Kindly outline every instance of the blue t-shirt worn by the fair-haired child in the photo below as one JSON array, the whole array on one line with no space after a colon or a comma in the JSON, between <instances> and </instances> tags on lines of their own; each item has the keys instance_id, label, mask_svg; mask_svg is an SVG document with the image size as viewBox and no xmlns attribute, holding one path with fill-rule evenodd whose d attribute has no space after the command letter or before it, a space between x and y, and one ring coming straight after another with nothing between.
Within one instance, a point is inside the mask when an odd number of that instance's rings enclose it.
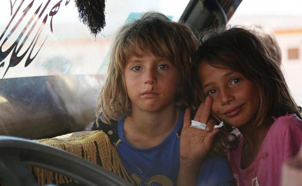
<instances>
[{"instance_id":1,"label":"blue t-shirt worn by the fair-haired child","mask_svg":"<svg viewBox=\"0 0 302 186\"><path fill-rule=\"evenodd\" d=\"M176 186L180 160L180 137L183 112L172 131L160 144L136 148L124 139L123 120L118 123L120 143L117 151L128 174L138 186ZM226 159L206 158L198 178L198 186L228 186L233 176Z\"/></svg>"}]
</instances>

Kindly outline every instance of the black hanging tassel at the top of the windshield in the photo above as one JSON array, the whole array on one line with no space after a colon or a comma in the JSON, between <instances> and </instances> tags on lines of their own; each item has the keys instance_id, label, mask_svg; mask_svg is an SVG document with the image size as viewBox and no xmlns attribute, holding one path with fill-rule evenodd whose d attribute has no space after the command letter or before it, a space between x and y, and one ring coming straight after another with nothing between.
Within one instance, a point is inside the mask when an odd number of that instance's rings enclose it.
<instances>
[{"instance_id":1,"label":"black hanging tassel at the top of the windshield","mask_svg":"<svg viewBox=\"0 0 302 186\"><path fill-rule=\"evenodd\" d=\"M105 1L106 0L75 0L81 22L88 26L91 35L94 35L94 37L96 37L106 25Z\"/></svg>"}]
</instances>

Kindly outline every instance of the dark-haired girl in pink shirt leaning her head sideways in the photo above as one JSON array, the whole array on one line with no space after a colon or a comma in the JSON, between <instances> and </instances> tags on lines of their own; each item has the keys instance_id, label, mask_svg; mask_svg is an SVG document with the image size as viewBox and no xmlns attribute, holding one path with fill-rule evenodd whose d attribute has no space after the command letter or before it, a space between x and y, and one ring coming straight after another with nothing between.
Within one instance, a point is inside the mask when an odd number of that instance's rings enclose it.
<instances>
[{"instance_id":1,"label":"dark-haired girl in pink shirt leaning her head sideways","mask_svg":"<svg viewBox=\"0 0 302 186\"><path fill-rule=\"evenodd\" d=\"M205 33L193 61L196 103L204 102L197 113L211 110L240 131L228 152L237 186L279 186L283 162L302 143L302 116L277 60L253 32L232 28Z\"/></svg>"}]
</instances>

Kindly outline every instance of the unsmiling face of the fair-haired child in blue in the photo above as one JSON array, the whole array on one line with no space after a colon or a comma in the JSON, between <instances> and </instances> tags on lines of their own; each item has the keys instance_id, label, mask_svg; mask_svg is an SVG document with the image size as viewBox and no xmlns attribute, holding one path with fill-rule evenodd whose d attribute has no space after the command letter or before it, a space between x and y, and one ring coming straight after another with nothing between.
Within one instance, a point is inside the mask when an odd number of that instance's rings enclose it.
<instances>
[{"instance_id":1,"label":"unsmiling face of the fair-haired child in blue","mask_svg":"<svg viewBox=\"0 0 302 186\"><path fill-rule=\"evenodd\" d=\"M171 61L141 52L141 57L129 57L124 76L133 111L156 112L175 105L180 73Z\"/></svg>"}]
</instances>

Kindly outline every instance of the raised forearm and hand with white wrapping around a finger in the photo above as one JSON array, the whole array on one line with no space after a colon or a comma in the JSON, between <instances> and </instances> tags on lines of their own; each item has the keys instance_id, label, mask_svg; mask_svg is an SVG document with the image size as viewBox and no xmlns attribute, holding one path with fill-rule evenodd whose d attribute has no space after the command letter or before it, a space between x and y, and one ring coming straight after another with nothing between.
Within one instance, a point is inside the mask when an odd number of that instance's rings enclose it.
<instances>
[{"instance_id":1,"label":"raised forearm and hand with white wrapping around a finger","mask_svg":"<svg viewBox=\"0 0 302 186\"><path fill-rule=\"evenodd\" d=\"M215 125L214 120L209 120L211 114L212 98L207 97L194 117L195 121L207 124L210 130ZM202 160L211 150L215 135L219 129L210 131L191 128L190 110L186 109L183 118L180 143L180 170L177 179L178 186L196 186ZM209 127L208 127L209 126Z\"/></svg>"}]
</instances>

